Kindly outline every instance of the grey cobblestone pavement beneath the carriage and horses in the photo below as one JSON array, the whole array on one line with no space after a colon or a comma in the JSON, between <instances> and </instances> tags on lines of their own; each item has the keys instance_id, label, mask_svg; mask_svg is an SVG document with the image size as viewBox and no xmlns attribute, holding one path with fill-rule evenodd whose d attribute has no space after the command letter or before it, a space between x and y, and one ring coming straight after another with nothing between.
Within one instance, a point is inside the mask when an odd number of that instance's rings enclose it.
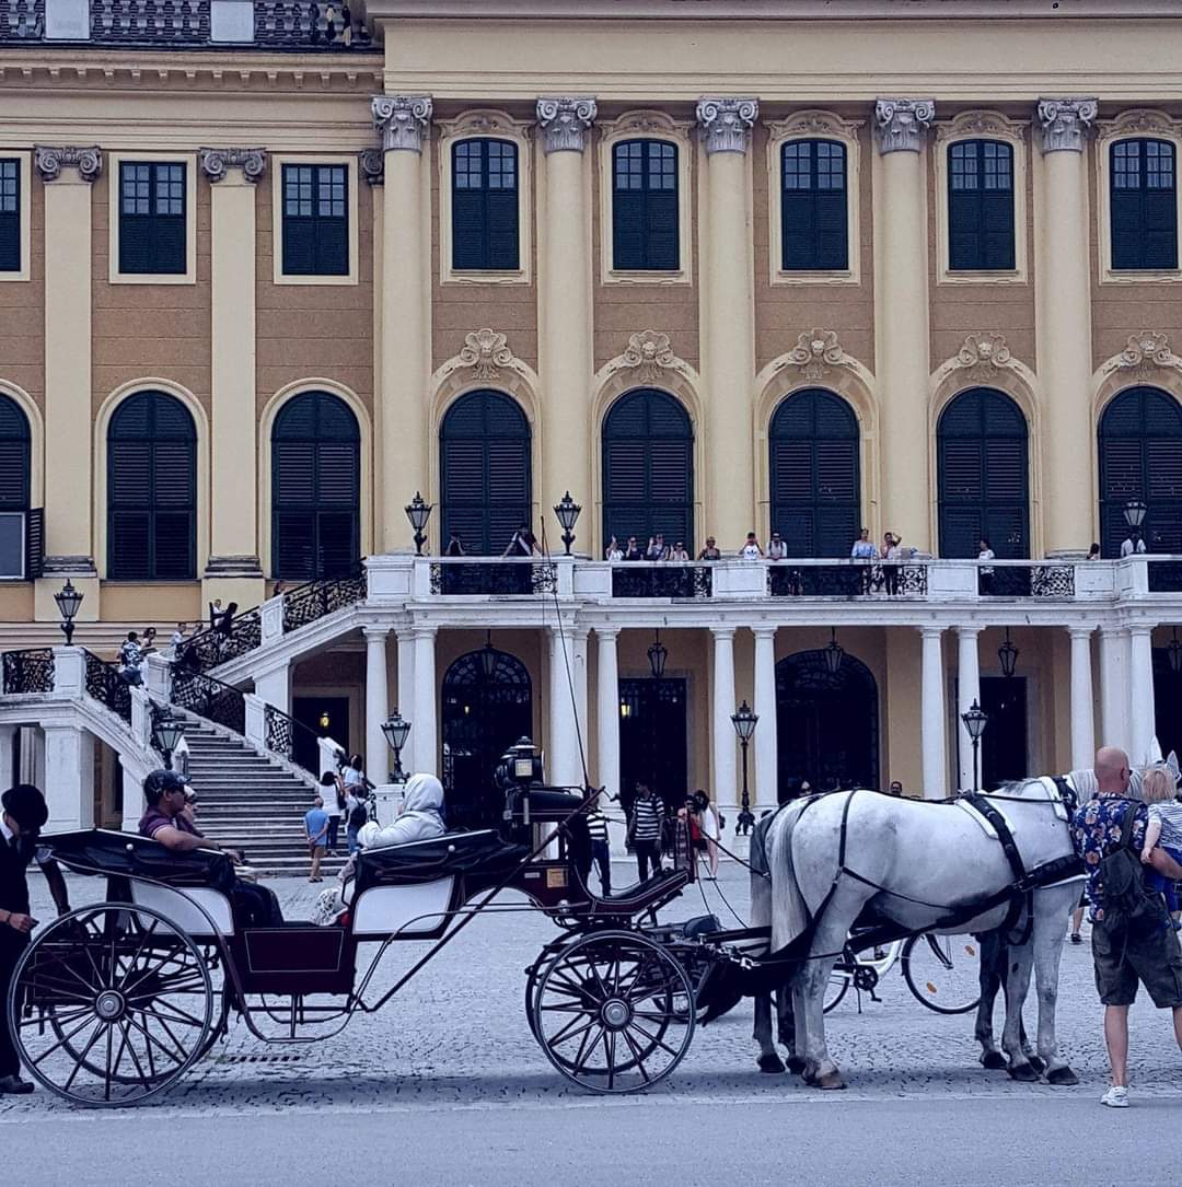
<instances>
[{"instance_id":1,"label":"grey cobblestone pavement beneath the carriage and horses","mask_svg":"<svg viewBox=\"0 0 1182 1187\"><path fill-rule=\"evenodd\" d=\"M617 878L624 881L620 865ZM321 889L286 878L271 883L287 918L306 918ZM50 919L52 909L39 877L34 880L34 913ZM75 878L75 903L101 893L96 878ZM685 919L710 909L734 923L719 890L746 918L746 872L725 865L715 887L703 883L674 903L666 915ZM541 946L556 935L539 914L516 912L478 919L443 950L385 1009L354 1017L335 1037L321 1043L268 1047L240 1022L188 1077L163 1099L144 1107L165 1113L268 1113L291 1110L383 1111L386 1109L489 1107L514 1103L579 1107L592 1099L568 1085L535 1043L523 1005L523 971ZM365 967L375 946L359 958ZM396 975L425 951L421 942L393 946L377 972L368 998L379 996ZM903 980L898 966L879 985L881 1003L846 996L828 1016L830 1049L849 1084L843 1099L866 1097L1028 1098L1102 1092L1106 1064L1101 1008L1092 980L1089 947L1068 945L1063 952L1058 1033L1062 1049L1079 1073L1081 1086L1054 1088L1012 1083L1004 1072L978 1065L972 1016L942 1017L925 1010ZM1032 1023L1034 1003L1028 1004ZM998 1011L1000 1023L1000 1009ZM1131 1078L1138 1098L1182 1097L1182 1058L1174 1043L1168 1014L1142 999L1132 1011ZM700 1028L675 1075L653 1088L657 1104L677 1100L776 1102L830 1096L801 1085L795 1077L761 1075L751 1042L751 1003ZM26 1098L0 1098L0 1124L31 1112L69 1111L64 1102L39 1091Z\"/></svg>"}]
</instances>

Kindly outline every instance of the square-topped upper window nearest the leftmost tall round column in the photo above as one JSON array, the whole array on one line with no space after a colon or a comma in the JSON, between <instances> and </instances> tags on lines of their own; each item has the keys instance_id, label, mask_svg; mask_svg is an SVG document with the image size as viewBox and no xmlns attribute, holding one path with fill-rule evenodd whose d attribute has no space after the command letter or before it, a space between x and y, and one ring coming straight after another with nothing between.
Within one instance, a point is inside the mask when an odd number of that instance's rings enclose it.
<instances>
[{"instance_id":1,"label":"square-topped upper window nearest the leftmost tall round column","mask_svg":"<svg viewBox=\"0 0 1182 1187\"><path fill-rule=\"evenodd\" d=\"M283 274L349 274L349 180L345 165L283 166Z\"/></svg>"}]
</instances>

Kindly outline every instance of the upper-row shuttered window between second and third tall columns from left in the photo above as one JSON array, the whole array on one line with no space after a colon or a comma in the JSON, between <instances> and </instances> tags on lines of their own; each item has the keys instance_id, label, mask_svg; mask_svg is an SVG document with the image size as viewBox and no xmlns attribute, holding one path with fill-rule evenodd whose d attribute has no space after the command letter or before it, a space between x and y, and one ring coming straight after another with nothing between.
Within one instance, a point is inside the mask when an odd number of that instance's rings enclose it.
<instances>
[{"instance_id":1,"label":"upper-row shuttered window between second and third tall columns from left","mask_svg":"<svg viewBox=\"0 0 1182 1187\"><path fill-rule=\"evenodd\" d=\"M677 146L622 140L612 148L612 267L676 272Z\"/></svg>"}]
</instances>

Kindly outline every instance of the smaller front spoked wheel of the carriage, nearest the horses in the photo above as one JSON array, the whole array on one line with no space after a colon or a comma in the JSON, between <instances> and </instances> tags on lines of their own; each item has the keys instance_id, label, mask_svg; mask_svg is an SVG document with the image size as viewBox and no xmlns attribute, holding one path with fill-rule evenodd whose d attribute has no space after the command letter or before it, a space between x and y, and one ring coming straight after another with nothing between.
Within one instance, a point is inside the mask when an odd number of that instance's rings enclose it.
<instances>
[{"instance_id":1,"label":"smaller front spoked wheel of the carriage, nearest the horses","mask_svg":"<svg viewBox=\"0 0 1182 1187\"><path fill-rule=\"evenodd\" d=\"M663 1080L694 1035L694 986L659 944L632 932L586 935L538 980L532 1029L550 1062L594 1092Z\"/></svg>"}]
</instances>

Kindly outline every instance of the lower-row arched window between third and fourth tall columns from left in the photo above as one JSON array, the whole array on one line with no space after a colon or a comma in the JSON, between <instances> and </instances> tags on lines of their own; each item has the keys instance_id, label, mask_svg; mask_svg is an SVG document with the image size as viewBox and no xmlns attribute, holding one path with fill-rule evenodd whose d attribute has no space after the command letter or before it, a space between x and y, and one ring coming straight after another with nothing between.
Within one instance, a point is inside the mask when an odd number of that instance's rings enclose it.
<instances>
[{"instance_id":1,"label":"lower-row arched window between third and fourth tall columns from left","mask_svg":"<svg viewBox=\"0 0 1182 1187\"><path fill-rule=\"evenodd\" d=\"M858 418L822 388L795 392L769 430L771 527L794 557L848 557L861 526Z\"/></svg>"}]
</instances>

